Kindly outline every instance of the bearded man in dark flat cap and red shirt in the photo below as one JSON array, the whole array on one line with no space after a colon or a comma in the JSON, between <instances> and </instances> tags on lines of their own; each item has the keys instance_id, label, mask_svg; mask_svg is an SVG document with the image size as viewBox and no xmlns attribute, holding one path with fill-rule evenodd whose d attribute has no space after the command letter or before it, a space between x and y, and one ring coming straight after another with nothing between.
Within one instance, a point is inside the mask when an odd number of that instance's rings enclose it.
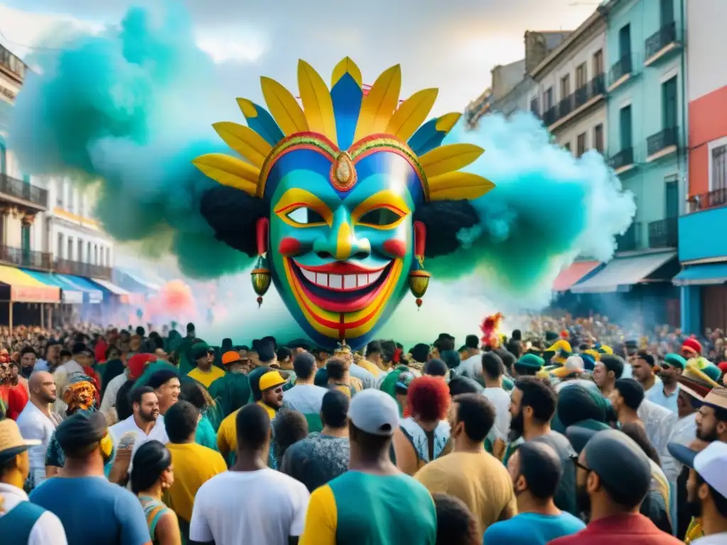
<instances>
[{"instance_id":1,"label":"bearded man in dark flat cap and red shirt","mask_svg":"<svg viewBox=\"0 0 727 545\"><path fill-rule=\"evenodd\" d=\"M549 545L680 545L639 513L651 485L651 465L639 445L623 432L569 430L577 447L579 510L590 515L587 527Z\"/></svg>"}]
</instances>

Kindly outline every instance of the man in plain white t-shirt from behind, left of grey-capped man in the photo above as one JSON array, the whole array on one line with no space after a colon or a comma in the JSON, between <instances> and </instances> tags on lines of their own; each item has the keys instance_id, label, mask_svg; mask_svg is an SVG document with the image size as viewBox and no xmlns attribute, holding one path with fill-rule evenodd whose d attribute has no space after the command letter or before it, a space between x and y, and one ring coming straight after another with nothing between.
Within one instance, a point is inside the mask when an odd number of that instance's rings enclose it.
<instances>
[{"instance_id":1,"label":"man in plain white t-shirt from behind, left of grey-capped man","mask_svg":"<svg viewBox=\"0 0 727 545\"><path fill-rule=\"evenodd\" d=\"M271 437L267 411L257 404L245 405L236 413L235 424L236 462L230 471L215 475L197 491L190 541L217 545L296 543L308 509L308 490L267 466Z\"/></svg>"}]
</instances>

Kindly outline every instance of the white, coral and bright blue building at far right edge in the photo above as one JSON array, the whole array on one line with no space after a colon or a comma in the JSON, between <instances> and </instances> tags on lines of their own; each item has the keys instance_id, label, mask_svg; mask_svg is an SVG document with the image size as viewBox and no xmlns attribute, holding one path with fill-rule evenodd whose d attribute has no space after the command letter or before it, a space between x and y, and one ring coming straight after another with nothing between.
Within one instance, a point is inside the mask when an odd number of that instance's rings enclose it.
<instances>
[{"instance_id":1,"label":"white, coral and bright blue building at far right edge","mask_svg":"<svg viewBox=\"0 0 727 545\"><path fill-rule=\"evenodd\" d=\"M687 1L688 193L679 218L686 331L727 329L727 10L720 0Z\"/></svg>"}]
</instances>

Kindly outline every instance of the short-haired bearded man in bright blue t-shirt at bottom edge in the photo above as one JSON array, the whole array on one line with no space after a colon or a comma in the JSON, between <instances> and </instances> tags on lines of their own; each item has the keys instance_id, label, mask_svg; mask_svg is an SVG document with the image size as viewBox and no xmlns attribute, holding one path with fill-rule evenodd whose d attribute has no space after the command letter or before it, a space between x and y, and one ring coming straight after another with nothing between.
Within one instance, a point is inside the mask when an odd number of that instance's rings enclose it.
<instances>
[{"instance_id":1,"label":"short-haired bearded man in bright blue t-shirt at bottom edge","mask_svg":"<svg viewBox=\"0 0 727 545\"><path fill-rule=\"evenodd\" d=\"M510 457L507 470L513 479L518 514L487 528L487 545L545 545L585 528L574 515L555 506L563 469L558 454L545 443L523 443Z\"/></svg>"}]
</instances>

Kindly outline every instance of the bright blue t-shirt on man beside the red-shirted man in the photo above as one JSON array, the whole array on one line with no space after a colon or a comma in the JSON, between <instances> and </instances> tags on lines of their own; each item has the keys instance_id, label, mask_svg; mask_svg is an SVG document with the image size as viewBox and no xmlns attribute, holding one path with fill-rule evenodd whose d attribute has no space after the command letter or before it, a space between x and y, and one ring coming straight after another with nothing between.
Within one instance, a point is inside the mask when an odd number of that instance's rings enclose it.
<instances>
[{"instance_id":1,"label":"bright blue t-shirt on man beside the red-shirted man","mask_svg":"<svg viewBox=\"0 0 727 545\"><path fill-rule=\"evenodd\" d=\"M565 511L558 515L521 513L495 522L485 531L485 545L545 545L548 541L583 530L586 525Z\"/></svg>"}]
</instances>

